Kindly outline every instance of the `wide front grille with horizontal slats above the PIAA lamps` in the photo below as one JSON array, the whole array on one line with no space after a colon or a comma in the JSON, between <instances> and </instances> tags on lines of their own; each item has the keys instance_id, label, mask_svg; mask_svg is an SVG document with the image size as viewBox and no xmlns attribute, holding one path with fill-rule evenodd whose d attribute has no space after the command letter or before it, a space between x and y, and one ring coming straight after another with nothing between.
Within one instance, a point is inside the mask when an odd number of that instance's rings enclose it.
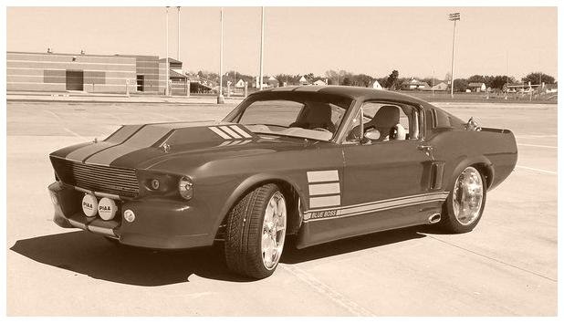
<instances>
[{"instance_id":1,"label":"wide front grille with horizontal slats above the PIAA lamps","mask_svg":"<svg viewBox=\"0 0 564 323\"><path fill-rule=\"evenodd\" d=\"M139 183L135 170L52 158L60 180L90 191L135 197Z\"/></svg>"}]
</instances>

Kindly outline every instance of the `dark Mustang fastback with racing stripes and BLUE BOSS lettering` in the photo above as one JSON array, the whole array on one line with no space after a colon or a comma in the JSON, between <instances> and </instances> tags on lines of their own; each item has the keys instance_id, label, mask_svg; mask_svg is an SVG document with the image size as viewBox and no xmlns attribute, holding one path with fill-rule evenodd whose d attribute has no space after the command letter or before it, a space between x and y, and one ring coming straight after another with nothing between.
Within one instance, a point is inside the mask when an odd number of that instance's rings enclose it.
<instances>
[{"instance_id":1,"label":"dark Mustang fastback with racing stripes and BLUE BOSS lettering","mask_svg":"<svg viewBox=\"0 0 564 323\"><path fill-rule=\"evenodd\" d=\"M391 91L288 87L221 122L124 125L54 151L54 221L121 245L225 248L263 278L298 248L420 224L469 232L517 162L510 130Z\"/></svg>"}]
</instances>

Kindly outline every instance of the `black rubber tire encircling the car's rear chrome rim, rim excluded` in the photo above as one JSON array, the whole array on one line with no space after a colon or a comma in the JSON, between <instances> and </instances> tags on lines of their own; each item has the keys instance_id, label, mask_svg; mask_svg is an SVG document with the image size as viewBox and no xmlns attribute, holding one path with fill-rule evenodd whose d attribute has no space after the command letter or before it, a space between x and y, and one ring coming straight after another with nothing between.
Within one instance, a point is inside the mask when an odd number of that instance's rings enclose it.
<instances>
[{"instance_id":1,"label":"black rubber tire encircling the car's rear chrome rim, rim excluded","mask_svg":"<svg viewBox=\"0 0 564 323\"><path fill-rule=\"evenodd\" d=\"M456 216L454 215L454 206L453 206L454 185L456 184L458 178L462 174L461 172L461 174L456 176L454 182L450 186L450 193L448 194L448 197L446 198L446 201L443 204L442 220L439 223L439 225L443 228L444 232L449 234L465 234L467 232L474 230L475 226L480 222L480 219L482 218L482 214L484 214L484 207L486 206L486 196L487 196L486 178L484 177L484 174L480 172L479 169L476 169L474 166L465 167L465 170L468 168L472 168L476 172L478 172L482 179L482 192L483 192L482 205L480 207L480 211L478 215L475 217L475 220L472 221L471 223L462 224L456 219Z\"/></svg>"}]
</instances>

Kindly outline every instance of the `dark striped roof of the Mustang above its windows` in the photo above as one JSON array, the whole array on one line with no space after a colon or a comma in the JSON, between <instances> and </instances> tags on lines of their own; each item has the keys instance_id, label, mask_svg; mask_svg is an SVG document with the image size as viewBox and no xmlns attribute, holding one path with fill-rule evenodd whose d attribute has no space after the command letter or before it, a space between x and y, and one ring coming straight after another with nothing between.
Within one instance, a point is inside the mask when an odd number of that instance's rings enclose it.
<instances>
[{"instance_id":1,"label":"dark striped roof of the Mustang above its windows","mask_svg":"<svg viewBox=\"0 0 564 323\"><path fill-rule=\"evenodd\" d=\"M400 94L385 89L370 89L370 88L332 86L332 85L331 86L306 85L306 86L296 86L296 87L263 89L261 91L252 93L250 96L260 96L261 94L273 93L273 92L278 92L280 94L284 92L288 92L288 93L309 92L309 93L337 95L340 97L346 97L355 100L381 99L381 100L403 101L413 104L421 104L426 107L430 106L428 102L423 101L422 99L414 98L409 95Z\"/></svg>"}]
</instances>

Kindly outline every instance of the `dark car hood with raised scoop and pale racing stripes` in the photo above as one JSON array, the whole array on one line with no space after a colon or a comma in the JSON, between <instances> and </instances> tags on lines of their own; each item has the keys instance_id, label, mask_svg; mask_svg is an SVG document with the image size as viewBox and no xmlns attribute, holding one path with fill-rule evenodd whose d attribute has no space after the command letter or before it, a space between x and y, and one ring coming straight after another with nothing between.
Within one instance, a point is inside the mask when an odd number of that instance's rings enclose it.
<instances>
[{"instance_id":1,"label":"dark car hood with raised scoop and pale racing stripes","mask_svg":"<svg viewBox=\"0 0 564 323\"><path fill-rule=\"evenodd\" d=\"M166 171L164 166L174 163L195 166L217 159L296 150L309 143L299 138L257 135L235 123L152 123L122 126L104 141L70 146L54 151L51 157L102 166Z\"/></svg>"}]
</instances>

